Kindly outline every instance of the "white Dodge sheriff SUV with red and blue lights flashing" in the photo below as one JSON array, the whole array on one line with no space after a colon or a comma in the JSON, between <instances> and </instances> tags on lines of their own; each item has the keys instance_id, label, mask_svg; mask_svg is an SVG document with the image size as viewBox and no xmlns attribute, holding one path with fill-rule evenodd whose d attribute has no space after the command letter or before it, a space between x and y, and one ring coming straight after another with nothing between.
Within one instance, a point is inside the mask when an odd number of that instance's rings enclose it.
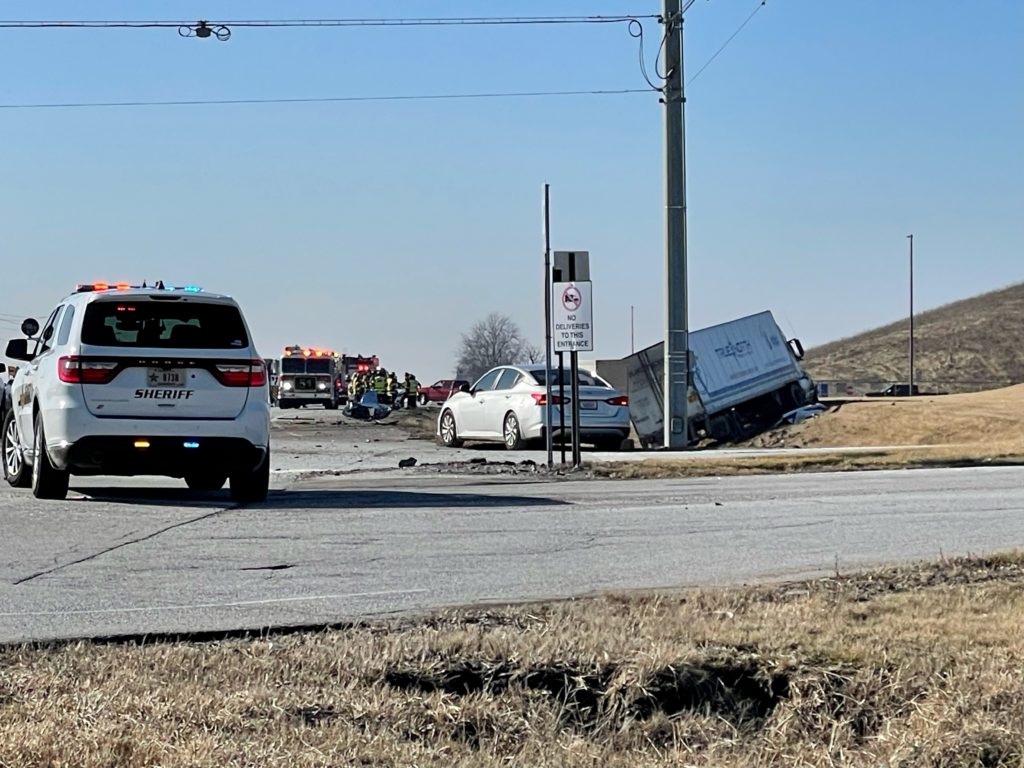
<instances>
[{"instance_id":1,"label":"white Dodge sheriff SUV with red and blue lights flashing","mask_svg":"<svg viewBox=\"0 0 1024 768\"><path fill-rule=\"evenodd\" d=\"M163 475L266 498L266 367L233 299L96 283L22 331L6 350L25 364L0 431L8 483L63 499L71 475Z\"/></svg>"}]
</instances>

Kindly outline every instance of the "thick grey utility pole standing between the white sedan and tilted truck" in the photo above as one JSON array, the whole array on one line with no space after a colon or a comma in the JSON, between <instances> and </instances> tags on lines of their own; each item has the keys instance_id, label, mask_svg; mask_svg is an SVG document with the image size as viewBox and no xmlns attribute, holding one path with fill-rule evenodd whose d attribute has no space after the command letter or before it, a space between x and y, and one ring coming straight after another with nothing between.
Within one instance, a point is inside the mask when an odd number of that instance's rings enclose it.
<instances>
[{"instance_id":1,"label":"thick grey utility pole standing between the white sedan and tilted truck","mask_svg":"<svg viewBox=\"0 0 1024 768\"><path fill-rule=\"evenodd\" d=\"M664 0L665 25L665 446L689 443L690 382L686 296L686 127L681 0Z\"/></svg>"}]
</instances>

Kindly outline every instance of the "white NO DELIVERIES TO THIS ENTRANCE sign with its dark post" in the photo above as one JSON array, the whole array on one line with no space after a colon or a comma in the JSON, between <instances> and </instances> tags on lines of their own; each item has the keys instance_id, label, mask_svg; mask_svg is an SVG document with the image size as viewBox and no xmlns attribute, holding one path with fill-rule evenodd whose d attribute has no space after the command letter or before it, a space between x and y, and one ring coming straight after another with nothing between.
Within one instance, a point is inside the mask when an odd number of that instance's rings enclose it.
<instances>
[{"instance_id":1,"label":"white NO DELIVERIES TO THIS ENTRANCE sign with its dark post","mask_svg":"<svg viewBox=\"0 0 1024 768\"><path fill-rule=\"evenodd\" d=\"M594 302L590 282L590 253L555 251L552 270L552 338L556 352L569 353L572 402L572 466L580 467L579 352L594 351ZM559 382L563 381L559 371Z\"/></svg>"}]
</instances>

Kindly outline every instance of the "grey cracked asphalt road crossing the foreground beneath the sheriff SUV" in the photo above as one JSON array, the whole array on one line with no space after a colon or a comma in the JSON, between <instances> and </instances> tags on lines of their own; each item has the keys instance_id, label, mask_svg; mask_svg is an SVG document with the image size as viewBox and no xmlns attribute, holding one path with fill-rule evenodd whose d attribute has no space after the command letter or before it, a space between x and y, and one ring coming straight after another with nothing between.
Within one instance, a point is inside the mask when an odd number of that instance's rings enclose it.
<instances>
[{"instance_id":1,"label":"grey cracked asphalt road crossing the foreground beneath the sheriff SUV","mask_svg":"<svg viewBox=\"0 0 1024 768\"><path fill-rule=\"evenodd\" d=\"M332 623L715 585L1024 542L1024 468L665 481L366 473L229 505L178 483L0 485L0 642Z\"/></svg>"}]
</instances>

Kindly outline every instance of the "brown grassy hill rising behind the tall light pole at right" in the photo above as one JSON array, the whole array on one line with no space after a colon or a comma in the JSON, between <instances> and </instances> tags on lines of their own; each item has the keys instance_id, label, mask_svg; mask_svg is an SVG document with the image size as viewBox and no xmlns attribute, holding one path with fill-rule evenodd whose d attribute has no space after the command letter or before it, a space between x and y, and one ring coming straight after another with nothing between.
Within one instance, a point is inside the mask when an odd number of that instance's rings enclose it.
<instances>
[{"instance_id":1,"label":"brown grassy hill rising behind the tall light pole at right","mask_svg":"<svg viewBox=\"0 0 1024 768\"><path fill-rule=\"evenodd\" d=\"M905 382L908 343L903 319L808 349L805 365L857 389ZM1024 283L915 315L914 370L922 387L947 392L1024 382Z\"/></svg>"}]
</instances>

